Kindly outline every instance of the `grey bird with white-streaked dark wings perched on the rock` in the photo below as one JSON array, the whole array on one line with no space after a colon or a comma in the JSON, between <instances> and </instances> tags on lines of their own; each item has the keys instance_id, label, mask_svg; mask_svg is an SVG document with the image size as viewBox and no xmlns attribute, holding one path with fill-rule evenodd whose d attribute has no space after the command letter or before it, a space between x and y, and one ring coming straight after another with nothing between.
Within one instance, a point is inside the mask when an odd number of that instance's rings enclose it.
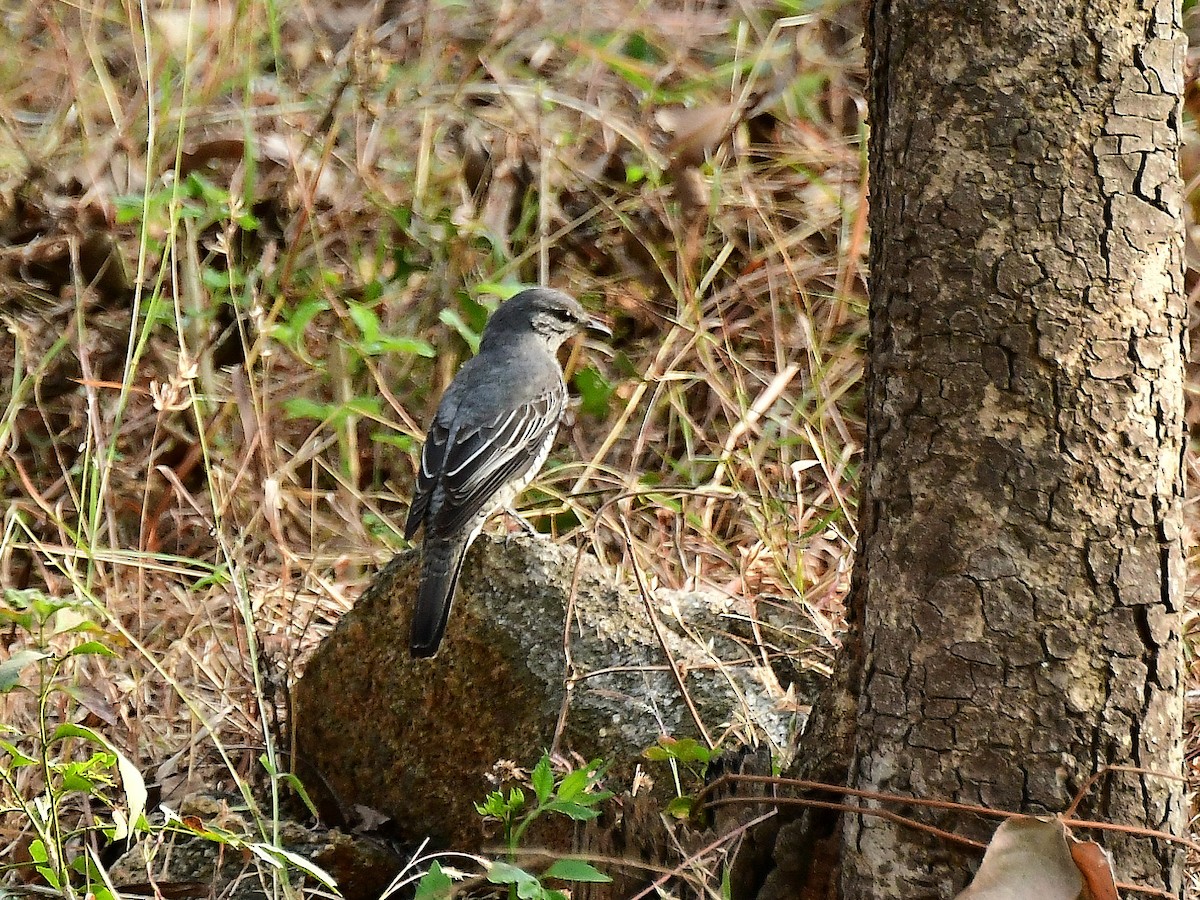
<instances>
[{"instance_id":1,"label":"grey bird with white-streaked dark wings perched on the rock","mask_svg":"<svg viewBox=\"0 0 1200 900\"><path fill-rule=\"evenodd\" d=\"M581 329L612 336L566 294L522 290L492 313L479 354L442 395L404 524L408 539L425 528L414 656L438 652L458 571L484 522L508 508L546 462L566 406L556 353Z\"/></svg>"}]
</instances>

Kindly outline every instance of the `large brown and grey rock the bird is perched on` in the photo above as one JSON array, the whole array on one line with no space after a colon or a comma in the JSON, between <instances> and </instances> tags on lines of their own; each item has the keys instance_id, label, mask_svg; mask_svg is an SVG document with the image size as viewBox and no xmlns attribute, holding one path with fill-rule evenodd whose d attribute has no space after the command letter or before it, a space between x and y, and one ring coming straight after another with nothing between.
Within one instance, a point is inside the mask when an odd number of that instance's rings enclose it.
<instances>
[{"instance_id":1,"label":"large brown and grey rock the bird is perched on","mask_svg":"<svg viewBox=\"0 0 1200 900\"><path fill-rule=\"evenodd\" d=\"M486 775L498 761L536 762L560 715L560 751L612 762L613 790L628 786L660 736L701 737L643 600L593 557L546 539L480 538L432 660L408 653L418 566L415 552L394 558L298 685L296 773L332 821L360 804L394 820L406 839L478 850L474 803L494 790ZM654 606L709 734L732 725L782 744L794 722L778 712L774 678L730 636L722 616L732 602L659 592ZM565 832L536 838L559 848L570 840Z\"/></svg>"}]
</instances>

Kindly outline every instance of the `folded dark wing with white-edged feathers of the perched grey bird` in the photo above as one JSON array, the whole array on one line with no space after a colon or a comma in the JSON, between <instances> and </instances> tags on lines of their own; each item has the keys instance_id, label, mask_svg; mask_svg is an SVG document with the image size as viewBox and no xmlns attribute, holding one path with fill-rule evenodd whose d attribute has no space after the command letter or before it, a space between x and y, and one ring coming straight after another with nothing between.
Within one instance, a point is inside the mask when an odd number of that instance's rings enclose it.
<instances>
[{"instance_id":1,"label":"folded dark wing with white-edged feathers of the perched grey bird","mask_svg":"<svg viewBox=\"0 0 1200 900\"><path fill-rule=\"evenodd\" d=\"M563 414L560 385L482 424L445 427L434 422L421 451L416 492L406 534L425 521L428 532L454 534L512 479L538 461ZM430 509L434 487L439 502ZM414 518L415 516L415 518Z\"/></svg>"}]
</instances>

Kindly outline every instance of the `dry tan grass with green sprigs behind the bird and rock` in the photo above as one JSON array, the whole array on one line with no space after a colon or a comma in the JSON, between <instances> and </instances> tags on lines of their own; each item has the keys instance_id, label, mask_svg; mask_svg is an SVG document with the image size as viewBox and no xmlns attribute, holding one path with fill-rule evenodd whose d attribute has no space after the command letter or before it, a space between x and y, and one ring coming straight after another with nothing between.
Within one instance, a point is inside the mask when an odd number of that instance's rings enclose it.
<instances>
[{"instance_id":1,"label":"dry tan grass with green sprigs behind the bird and rock","mask_svg":"<svg viewBox=\"0 0 1200 900\"><path fill-rule=\"evenodd\" d=\"M798 611L766 652L823 667L864 73L857 6L800 11L10 2L0 583L128 649L50 713L104 724L168 803L260 779L272 685L403 546L420 424L517 282L617 332L571 356L533 521L628 570L619 515L659 583Z\"/></svg>"}]
</instances>

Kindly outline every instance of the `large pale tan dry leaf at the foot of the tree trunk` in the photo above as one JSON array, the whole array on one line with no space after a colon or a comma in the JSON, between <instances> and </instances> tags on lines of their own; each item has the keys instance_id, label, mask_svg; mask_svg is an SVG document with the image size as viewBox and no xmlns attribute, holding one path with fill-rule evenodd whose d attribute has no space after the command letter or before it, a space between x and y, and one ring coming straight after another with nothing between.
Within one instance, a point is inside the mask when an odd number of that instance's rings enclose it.
<instances>
[{"instance_id":1,"label":"large pale tan dry leaf at the foot of the tree trunk","mask_svg":"<svg viewBox=\"0 0 1200 900\"><path fill-rule=\"evenodd\" d=\"M1067 836L1057 818L1016 816L1002 822L974 880L956 900L1078 900L1084 876Z\"/></svg>"}]
</instances>

